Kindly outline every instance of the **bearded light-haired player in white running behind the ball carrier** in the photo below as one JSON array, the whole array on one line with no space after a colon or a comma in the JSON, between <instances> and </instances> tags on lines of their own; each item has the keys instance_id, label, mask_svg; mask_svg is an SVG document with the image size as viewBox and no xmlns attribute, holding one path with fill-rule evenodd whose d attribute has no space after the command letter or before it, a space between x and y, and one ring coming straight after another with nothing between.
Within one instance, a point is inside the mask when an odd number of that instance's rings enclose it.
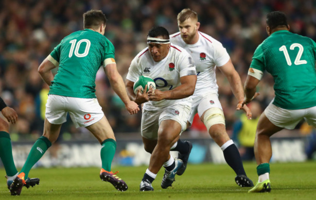
<instances>
[{"instance_id":1,"label":"bearded light-haired player in white running behind the ball carrier","mask_svg":"<svg viewBox=\"0 0 316 200\"><path fill-rule=\"evenodd\" d=\"M235 171L236 183L242 187L251 187L253 183L246 176L239 151L226 132L224 113L218 100L215 69L218 67L227 77L232 92L238 100L237 110L244 109L250 119L249 108L241 106L244 92L240 77L222 44L211 36L198 31L200 23L196 12L183 9L177 16L177 22L180 32L170 35L170 40L190 53L197 73L188 126L192 124L194 115L198 113L213 140L223 150L226 162ZM182 143L182 141L178 142ZM184 155L179 154L178 157L182 159ZM186 155L186 157L189 156ZM187 164L185 161L183 163L182 171L185 170Z\"/></svg>"}]
</instances>

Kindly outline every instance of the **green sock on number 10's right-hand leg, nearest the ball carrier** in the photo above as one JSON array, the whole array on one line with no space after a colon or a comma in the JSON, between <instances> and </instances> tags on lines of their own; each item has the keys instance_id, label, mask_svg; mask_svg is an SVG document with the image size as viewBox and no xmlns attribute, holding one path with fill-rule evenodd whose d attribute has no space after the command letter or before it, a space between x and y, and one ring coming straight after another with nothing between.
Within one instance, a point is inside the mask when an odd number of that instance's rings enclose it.
<instances>
[{"instance_id":1,"label":"green sock on number 10's right-hand leg, nearest the ball carrier","mask_svg":"<svg viewBox=\"0 0 316 200\"><path fill-rule=\"evenodd\" d=\"M106 139L101 145L102 168L106 171L111 171L111 164L116 150L116 141L113 139Z\"/></svg>"}]
</instances>

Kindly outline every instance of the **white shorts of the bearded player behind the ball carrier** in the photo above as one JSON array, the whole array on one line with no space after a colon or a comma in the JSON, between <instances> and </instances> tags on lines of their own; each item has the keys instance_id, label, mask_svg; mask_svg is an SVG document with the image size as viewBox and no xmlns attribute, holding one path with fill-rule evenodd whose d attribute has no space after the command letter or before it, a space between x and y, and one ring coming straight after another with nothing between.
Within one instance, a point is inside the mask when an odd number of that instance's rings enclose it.
<instances>
[{"instance_id":1,"label":"white shorts of the bearded player behind the ball carrier","mask_svg":"<svg viewBox=\"0 0 316 200\"><path fill-rule=\"evenodd\" d=\"M219 102L218 94L208 93L206 95L193 95L192 108L189 117L189 122L192 124L194 115L198 113L199 117L210 108L219 108L223 110L221 102Z\"/></svg>"}]
</instances>

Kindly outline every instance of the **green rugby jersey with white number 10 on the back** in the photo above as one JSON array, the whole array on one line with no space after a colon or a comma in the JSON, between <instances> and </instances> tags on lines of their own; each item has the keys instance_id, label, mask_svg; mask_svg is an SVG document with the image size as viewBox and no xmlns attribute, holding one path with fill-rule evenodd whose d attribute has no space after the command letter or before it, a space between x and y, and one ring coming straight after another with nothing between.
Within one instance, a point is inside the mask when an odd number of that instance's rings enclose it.
<instances>
[{"instance_id":1,"label":"green rugby jersey with white number 10 on the back","mask_svg":"<svg viewBox=\"0 0 316 200\"><path fill-rule=\"evenodd\" d=\"M105 59L114 59L114 46L104 35L85 29L66 36L51 56L59 68L49 94L96 98L96 73Z\"/></svg>"}]
</instances>

